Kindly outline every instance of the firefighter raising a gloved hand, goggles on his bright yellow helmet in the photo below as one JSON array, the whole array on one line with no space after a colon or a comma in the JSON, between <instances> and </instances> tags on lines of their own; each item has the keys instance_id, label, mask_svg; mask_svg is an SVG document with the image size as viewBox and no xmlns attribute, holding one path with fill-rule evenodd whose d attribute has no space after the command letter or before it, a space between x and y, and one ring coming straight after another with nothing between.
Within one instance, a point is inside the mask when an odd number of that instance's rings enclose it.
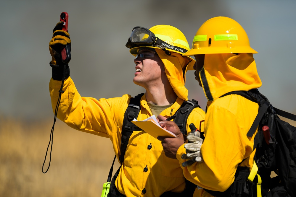
<instances>
[{"instance_id":1,"label":"firefighter raising a gloved hand, goggles on his bright yellow helmet","mask_svg":"<svg viewBox=\"0 0 296 197\"><path fill-rule=\"evenodd\" d=\"M53 110L64 79L57 117L78 131L110 138L119 158L123 117L131 95L99 100L81 97L70 77L68 64L64 78L62 74L63 64L58 51L61 45L70 43L68 32L58 23L49 43L52 55L49 92ZM133 82L146 89L137 120L159 114L174 115L184 100L188 100L185 73L194 70L195 62L189 56L183 56L189 50L183 33L169 25L157 25L149 30L135 27L126 46L136 57ZM187 119L187 131L190 132L188 123L199 123L204 118L205 112L195 108ZM134 131L115 186L117 196L180 196L185 188L185 178L178 160L165 156L160 141L145 131Z\"/></svg>"}]
</instances>

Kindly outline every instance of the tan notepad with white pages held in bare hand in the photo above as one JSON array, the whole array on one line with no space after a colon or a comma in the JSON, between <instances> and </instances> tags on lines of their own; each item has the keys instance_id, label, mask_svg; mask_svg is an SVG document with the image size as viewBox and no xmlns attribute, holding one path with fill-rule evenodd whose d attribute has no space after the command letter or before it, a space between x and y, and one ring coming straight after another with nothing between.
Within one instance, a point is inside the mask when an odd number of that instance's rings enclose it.
<instances>
[{"instance_id":1,"label":"tan notepad with white pages held in bare hand","mask_svg":"<svg viewBox=\"0 0 296 197\"><path fill-rule=\"evenodd\" d=\"M160 126L155 115L152 115L149 118L142 120L142 121L137 121L136 119L133 119L133 121L131 121L131 122L155 138L157 138L158 136L176 137L176 135L174 133L172 133Z\"/></svg>"}]
</instances>

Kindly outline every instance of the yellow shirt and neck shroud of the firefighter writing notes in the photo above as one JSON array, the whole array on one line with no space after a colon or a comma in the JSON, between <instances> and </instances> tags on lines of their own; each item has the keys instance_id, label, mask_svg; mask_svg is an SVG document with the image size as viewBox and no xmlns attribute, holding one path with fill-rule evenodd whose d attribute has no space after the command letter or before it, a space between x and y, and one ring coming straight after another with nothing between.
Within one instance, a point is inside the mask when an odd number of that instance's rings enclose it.
<instances>
[{"instance_id":1,"label":"yellow shirt and neck shroud of the firefighter writing notes","mask_svg":"<svg viewBox=\"0 0 296 197\"><path fill-rule=\"evenodd\" d=\"M240 166L253 166L254 136L249 131L258 113L258 104L239 95L220 96L235 90L250 90L261 86L252 53L206 54L200 78L208 99L201 146L204 162L183 168L185 178L202 188L225 191L234 182ZM258 130L257 130L258 131ZM257 133L257 131L255 133ZM180 165L184 162L184 145L178 149ZM203 189L194 196L210 197Z\"/></svg>"}]
</instances>

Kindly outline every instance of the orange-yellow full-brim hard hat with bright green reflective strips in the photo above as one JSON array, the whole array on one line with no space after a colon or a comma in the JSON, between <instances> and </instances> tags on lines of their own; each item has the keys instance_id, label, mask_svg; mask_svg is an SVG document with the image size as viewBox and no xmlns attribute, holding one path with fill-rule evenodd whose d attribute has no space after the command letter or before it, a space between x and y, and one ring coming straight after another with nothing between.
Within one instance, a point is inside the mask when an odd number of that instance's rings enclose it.
<instances>
[{"instance_id":1,"label":"orange-yellow full-brim hard hat with bright green reflective strips","mask_svg":"<svg viewBox=\"0 0 296 197\"><path fill-rule=\"evenodd\" d=\"M215 53L258 53L250 47L247 33L235 20L214 17L197 30L192 49L184 55Z\"/></svg>"}]
</instances>

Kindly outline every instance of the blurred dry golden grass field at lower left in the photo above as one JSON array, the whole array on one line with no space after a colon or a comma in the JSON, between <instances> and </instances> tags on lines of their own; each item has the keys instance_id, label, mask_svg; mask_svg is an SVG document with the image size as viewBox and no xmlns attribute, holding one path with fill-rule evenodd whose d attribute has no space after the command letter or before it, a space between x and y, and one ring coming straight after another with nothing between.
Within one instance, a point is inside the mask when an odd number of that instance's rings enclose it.
<instances>
[{"instance_id":1,"label":"blurred dry golden grass field at lower left","mask_svg":"<svg viewBox=\"0 0 296 197\"><path fill-rule=\"evenodd\" d=\"M114 158L110 140L76 131L57 120L51 165L43 174L52 122L0 118L1 197L101 196ZM46 161L44 171L49 157ZM113 171L118 167L115 161Z\"/></svg>"}]
</instances>

